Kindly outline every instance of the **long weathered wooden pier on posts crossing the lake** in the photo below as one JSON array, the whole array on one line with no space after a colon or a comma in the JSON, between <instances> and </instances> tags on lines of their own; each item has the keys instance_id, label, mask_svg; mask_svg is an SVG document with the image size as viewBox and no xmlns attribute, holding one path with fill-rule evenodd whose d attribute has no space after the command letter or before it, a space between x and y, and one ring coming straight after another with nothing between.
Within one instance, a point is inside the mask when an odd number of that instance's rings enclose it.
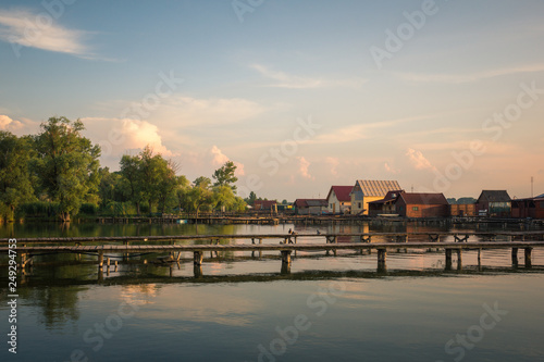
<instances>
[{"instance_id":1,"label":"long weathered wooden pier on posts crossing the lake","mask_svg":"<svg viewBox=\"0 0 544 362\"><path fill-rule=\"evenodd\" d=\"M477 237L478 241L469 241L470 237ZM447 238L453 241L444 241ZM506 241L496 241L498 238ZM220 244L221 240L251 240L251 244ZM263 244L263 240L273 240L274 244ZM277 244L277 239L280 242ZM314 242L321 239L325 242ZM374 240L379 239L378 242ZM421 240L428 241L421 241ZM529 240L528 240L529 239ZM124 258L127 260L131 254L146 253L168 253L166 257L158 258L158 263L177 263L182 260L182 253L193 253L195 265L194 274L201 277L201 265L205 262L205 253L228 252L251 252L251 257L263 257L263 252L280 252L282 260L281 271L284 274L290 273L292 254L297 251L324 252L336 255L338 251L353 250L356 253L372 253L378 255L378 272L386 272L387 252L408 252L412 249L443 250L445 253L445 271L453 270L453 254L457 254L457 270L462 270L462 252L467 250L478 250L478 263L481 266L482 250L489 249L511 249L511 263L518 266L518 250L524 251L524 266L532 266L531 255L533 248L544 247L544 232L455 232L455 233L360 233L360 234L272 234L272 235L182 235L182 236L147 236L147 237L76 237L76 238L27 238L17 239L17 253L20 265L25 271L25 266L39 254L94 254L97 255L99 266L99 278L103 277L103 269L109 273L111 259ZM200 242L194 245L178 245L175 242L191 240ZM300 242L297 242L300 241ZM304 241L302 241L304 240ZM312 240L312 244L309 244ZM165 245L164 242L169 244ZM89 244L101 245L89 245ZM104 242L110 242L104 245ZM116 245L112 245L116 242ZM131 244L132 242L132 244ZM145 245L141 245L145 242ZM162 244L161 244L162 242ZM201 242L209 242L203 245ZM72 244L72 245L66 245ZM75 244L75 245L73 245ZM86 244L86 245L84 245ZM139 245L135 245L139 244ZM30 245L30 246L27 246ZM0 252L8 253L8 247L0 247ZM113 255L110 255L113 254ZM122 257L118 257L118 254ZM106 257L106 260L104 260ZM277 254L274 257L277 259ZM209 261L209 260L207 260ZM147 261L146 261L147 262ZM116 267L118 261L114 261ZM355 269L357 265L354 266Z\"/></svg>"}]
</instances>

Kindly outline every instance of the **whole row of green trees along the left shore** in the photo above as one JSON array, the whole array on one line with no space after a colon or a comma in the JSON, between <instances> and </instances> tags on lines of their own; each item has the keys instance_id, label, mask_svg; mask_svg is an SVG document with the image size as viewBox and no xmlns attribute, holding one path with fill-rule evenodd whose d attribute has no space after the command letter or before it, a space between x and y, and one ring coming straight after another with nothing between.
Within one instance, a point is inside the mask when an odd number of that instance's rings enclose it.
<instances>
[{"instance_id":1,"label":"whole row of green trees along the left shore","mask_svg":"<svg viewBox=\"0 0 544 362\"><path fill-rule=\"evenodd\" d=\"M120 171L99 162L100 147L82 136L84 125L51 117L38 135L0 132L0 214L4 220L75 215L148 215L151 213L244 211L236 196L236 165L228 161L213 182L191 183L180 166L146 147L123 155Z\"/></svg>"}]
</instances>

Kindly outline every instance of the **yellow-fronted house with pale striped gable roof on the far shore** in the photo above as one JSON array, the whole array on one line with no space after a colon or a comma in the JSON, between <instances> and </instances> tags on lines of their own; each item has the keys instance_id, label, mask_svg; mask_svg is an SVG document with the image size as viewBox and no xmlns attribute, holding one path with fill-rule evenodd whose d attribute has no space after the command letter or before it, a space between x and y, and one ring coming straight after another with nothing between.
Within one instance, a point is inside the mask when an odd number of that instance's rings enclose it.
<instances>
[{"instance_id":1,"label":"yellow-fronted house with pale striped gable roof on the far shore","mask_svg":"<svg viewBox=\"0 0 544 362\"><path fill-rule=\"evenodd\" d=\"M358 179L350 192L351 214L368 215L369 202L382 200L388 191L400 189L396 180Z\"/></svg>"}]
</instances>

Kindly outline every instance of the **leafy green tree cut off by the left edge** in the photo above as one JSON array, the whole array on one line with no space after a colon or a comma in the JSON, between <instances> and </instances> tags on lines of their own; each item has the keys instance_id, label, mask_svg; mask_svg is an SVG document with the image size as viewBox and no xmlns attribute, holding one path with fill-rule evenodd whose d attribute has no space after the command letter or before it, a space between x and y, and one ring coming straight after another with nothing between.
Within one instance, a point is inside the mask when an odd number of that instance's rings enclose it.
<instances>
[{"instance_id":1,"label":"leafy green tree cut off by the left edge","mask_svg":"<svg viewBox=\"0 0 544 362\"><path fill-rule=\"evenodd\" d=\"M13 219L17 205L35 199L28 172L30 154L27 138L0 132L0 204L7 219Z\"/></svg>"}]
</instances>

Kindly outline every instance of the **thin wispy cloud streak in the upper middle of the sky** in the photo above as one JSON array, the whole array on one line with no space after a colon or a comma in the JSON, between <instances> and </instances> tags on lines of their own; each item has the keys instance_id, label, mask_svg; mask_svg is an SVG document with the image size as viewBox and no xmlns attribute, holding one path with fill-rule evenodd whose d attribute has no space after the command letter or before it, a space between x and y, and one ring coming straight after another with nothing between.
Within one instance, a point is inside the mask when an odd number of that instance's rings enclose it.
<instances>
[{"instance_id":1,"label":"thin wispy cloud streak in the upper middle of the sky","mask_svg":"<svg viewBox=\"0 0 544 362\"><path fill-rule=\"evenodd\" d=\"M324 79L324 78L309 78L287 74L280 71L273 71L261 64L250 65L254 70L259 72L263 77L275 80L267 87L273 88L289 88L289 89L311 89L322 87L359 87L366 79Z\"/></svg>"}]
</instances>

